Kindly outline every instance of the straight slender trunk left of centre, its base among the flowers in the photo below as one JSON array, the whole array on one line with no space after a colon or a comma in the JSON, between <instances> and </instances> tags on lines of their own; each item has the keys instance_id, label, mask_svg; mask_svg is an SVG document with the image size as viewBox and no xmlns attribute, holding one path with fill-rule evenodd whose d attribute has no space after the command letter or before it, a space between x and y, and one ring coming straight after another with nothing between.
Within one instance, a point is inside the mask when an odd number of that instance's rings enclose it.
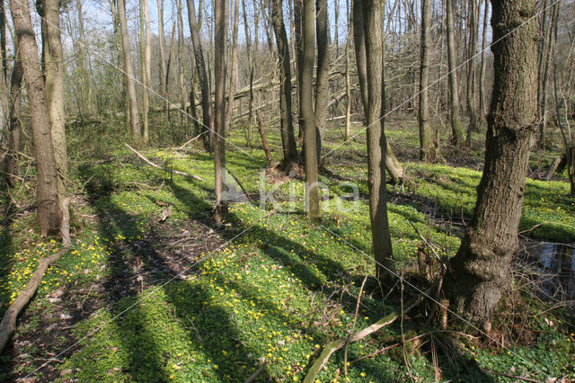
<instances>
[{"instance_id":1,"label":"straight slender trunk left of centre, its base among the flowers","mask_svg":"<svg viewBox=\"0 0 575 383\"><path fill-rule=\"evenodd\" d=\"M193 1L193 0L189 0ZM216 191L216 213L214 219L220 224L227 215L226 192L226 4L227 1L214 2L214 19L216 22L214 39L214 174Z\"/></svg>"}]
</instances>

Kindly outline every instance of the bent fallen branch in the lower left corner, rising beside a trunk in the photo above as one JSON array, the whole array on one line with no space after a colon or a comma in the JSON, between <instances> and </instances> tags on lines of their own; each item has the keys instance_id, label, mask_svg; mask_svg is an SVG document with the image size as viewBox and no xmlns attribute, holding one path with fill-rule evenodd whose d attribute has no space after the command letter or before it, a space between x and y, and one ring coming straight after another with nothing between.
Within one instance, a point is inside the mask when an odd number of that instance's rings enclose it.
<instances>
[{"instance_id":1,"label":"bent fallen branch in the lower left corner, rising beside a trunk","mask_svg":"<svg viewBox=\"0 0 575 383\"><path fill-rule=\"evenodd\" d=\"M60 251L58 251L56 254L52 254L49 257L40 258L40 261L38 262L38 267L36 268L34 274L31 276L30 281L28 281L26 287L22 289L18 297L12 302L12 304L8 307L8 309L4 313L4 316L2 317L2 322L0 322L0 352L4 350L6 343L8 343L8 341L16 331L16 319L22 312L22 308L24 308L28 304L28 302L30 302L30 299L36 293L36 290L39 288L40 282L42 281L42 278L44 277L44 274L46 273L48 268L52 264L56 263L57 260L60 259L60 257L63 254L66 254L67 251L70 249L70 235L69 235L70 221L69 221L69 215L67 214L67 200L68 199L66 198L60 202L61 208L63 210L65 209L63 211L62 229L61 229L64 247L60 249Z\"/></svg>"}]
</instances>

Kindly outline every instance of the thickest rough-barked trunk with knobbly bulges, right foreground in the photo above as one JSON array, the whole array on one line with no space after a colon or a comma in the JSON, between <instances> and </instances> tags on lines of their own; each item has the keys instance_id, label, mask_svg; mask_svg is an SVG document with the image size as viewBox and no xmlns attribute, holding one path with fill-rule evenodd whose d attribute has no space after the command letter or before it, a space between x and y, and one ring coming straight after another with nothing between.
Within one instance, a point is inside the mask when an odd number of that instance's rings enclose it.
<instances>
[{"instance_id":1,"label":"thickest rough-barked trunk with knobbly bulges, right foreground","mask_svg":"<svg viewBox=\"0 0 575 383\"><path fill-rule=\"evenodd\" d=\"M506 285L537 129L535 0L493 0L494 82L473 221L446 279L457 313L490 327ZM517 28L517 25L521 25Z\"/></svg>"}]
</instances>

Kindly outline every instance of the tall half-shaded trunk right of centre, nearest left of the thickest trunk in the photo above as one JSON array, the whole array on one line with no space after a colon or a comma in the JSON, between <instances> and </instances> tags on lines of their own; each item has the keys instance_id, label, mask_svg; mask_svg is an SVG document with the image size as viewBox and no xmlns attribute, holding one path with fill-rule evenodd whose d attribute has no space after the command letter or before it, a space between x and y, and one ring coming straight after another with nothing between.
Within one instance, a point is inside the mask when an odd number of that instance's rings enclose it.
<instances>
[{"instance_id":1,"label":"tall half-shaded trunk right of centre, nearest left of the thickest trunk","mask_svg":"<svg viewBox=\"0 0 575 383\"><path fill-rule=\"evenodd\" d=\"M376 275L383 278L395 271L392 242L387 221L387 192L385 190L385 84L384 84L384 9L378 0L354 0L354 19L363 15L363 22L355 20L354 27L363 24L367 64L367 184L369 187L369 217Z\"/></svg>"}]
</instances>

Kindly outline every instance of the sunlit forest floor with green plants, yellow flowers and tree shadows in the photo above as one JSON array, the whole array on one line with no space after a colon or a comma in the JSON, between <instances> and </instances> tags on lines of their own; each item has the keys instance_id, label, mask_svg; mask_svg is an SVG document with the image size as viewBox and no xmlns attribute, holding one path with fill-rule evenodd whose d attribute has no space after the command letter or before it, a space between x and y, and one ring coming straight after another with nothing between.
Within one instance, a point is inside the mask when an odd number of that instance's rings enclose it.
<instances>
[{"instance_id":1,"label":"sunlit forest floor with green plants, yellow flowers and tree shadows","mask_svg":"<svg viewBox=\"0 0 575 383\"><path fill-rule=\"evenodd\" d=\"M254 372L256 381L303 379L326 343L419 296L427 286L418 248L431 245L439 257L452 256L472 216L482 137L422 164L415 122L392 122L387 135L408 180L388 185L394 256L405 276L389 286L372 277L365 135L340 147L341 127L329 130L323 216L314 222L303 212L301 174L265 170L259 141L249 149L243 130L233 129L229 171L251 195L264 188L275 203L238 199L219 227L211 220L212 156L199 147L143 153L206 181L152 168L118 144L70 138L74 246L49 269L22 314L0 356L0 380L244 381ZM269 140L277 155L279 136L270 131ZM560 156L553 150L559 149L535 152L535 173ZM357 201L349 198L351 183ZM5 206L0 314L39 258L60 246L33 228L32 184L13 191ZM414 310L349 344L347 376L341 351L318 379L575 379L574 217L564 174L550 182L528 179L522 249L490 334L456 318L461 332L441 331ZM542 244L563 254L530 254Z\"/></svg>"}]
</instances>

